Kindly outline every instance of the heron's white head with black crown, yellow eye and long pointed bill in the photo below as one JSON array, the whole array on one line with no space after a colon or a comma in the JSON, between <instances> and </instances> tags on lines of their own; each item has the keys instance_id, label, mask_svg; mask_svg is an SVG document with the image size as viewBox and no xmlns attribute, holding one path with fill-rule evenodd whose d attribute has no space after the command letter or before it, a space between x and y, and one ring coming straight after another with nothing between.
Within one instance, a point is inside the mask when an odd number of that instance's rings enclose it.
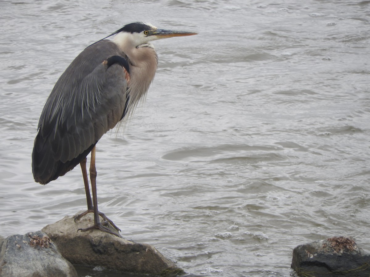
<instances>
[{"instance_id":1,"label":"heron's white head with black crown, yellow eye and long pointed bill","mask_svg":"<svg viewBox=\"0 0 370 277\"><path fill-rule=\"evenodd\" d=\"M125 44L128 46L128 44L130 44L130 47L138 47L139 45L151 47L151 44L149 44L150 41L160 40L162 38L196 35L197 33L162 30L149 23L134 22L123 26L113 34L116 34L114 42L118 45Z\"/></svg>"}]
</instances>

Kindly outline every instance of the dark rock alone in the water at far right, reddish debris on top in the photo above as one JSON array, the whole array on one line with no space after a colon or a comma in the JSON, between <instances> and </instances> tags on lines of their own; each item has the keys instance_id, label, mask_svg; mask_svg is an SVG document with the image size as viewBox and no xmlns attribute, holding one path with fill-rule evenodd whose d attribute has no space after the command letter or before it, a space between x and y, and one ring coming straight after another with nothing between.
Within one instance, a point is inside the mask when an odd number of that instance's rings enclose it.
<instances>
[{"instance_id":1,"label":"dark rock alone in the water at far right, reddish debris on top","mask_svg":"<svg viewBox=\"0 0 370 277\"><path fill-rule=\"evenodd\" d=\"M299 276L370 276L370 254L348 236L302 244L293 250L292 269Z\"/></svg>"}]
</instances>

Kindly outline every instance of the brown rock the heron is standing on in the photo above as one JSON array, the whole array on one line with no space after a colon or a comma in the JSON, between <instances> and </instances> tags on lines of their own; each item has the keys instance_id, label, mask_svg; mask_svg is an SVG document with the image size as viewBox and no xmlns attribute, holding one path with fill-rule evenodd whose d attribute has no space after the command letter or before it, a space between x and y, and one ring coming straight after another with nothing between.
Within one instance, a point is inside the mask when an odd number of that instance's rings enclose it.
<instances>
[{"instance_id":1,"label":"brown rock the heron is standing on","mask_svg":"<svg viewBox=\"0 0 370 277\"><path fill-rule=\"evenodd\" d=\"M149 244L134 243L97 229L77 232L79 228L93 224L93 213L88 213L76 222L73 216L65 216L42 230L72 264L140 274L171 275L183 272ZM108 227L117 233L110 224Z\"/></svg>"}]
</instances>

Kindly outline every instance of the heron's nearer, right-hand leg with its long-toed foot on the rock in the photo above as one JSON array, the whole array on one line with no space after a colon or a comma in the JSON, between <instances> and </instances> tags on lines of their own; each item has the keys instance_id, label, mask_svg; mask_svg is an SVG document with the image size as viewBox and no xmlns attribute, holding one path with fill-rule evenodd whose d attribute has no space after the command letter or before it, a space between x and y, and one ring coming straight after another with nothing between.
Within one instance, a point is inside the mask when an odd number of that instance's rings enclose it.
<instances>
[{"instance_id":1,"label":"heron's nearer, right-hand leg with its long-toed foot on the rock","mask_svg":"<svg viewBox=\"0 0 370 277\"><path fill-rule=\"evenodd\" d=\"M84 229L78 229L78 230L81 230L81 232L84 232L84 231L87 231L87 230L99 229L103 232L107 232L107 233L110 233L112 235L120 237L120 235L112 232L110 229L103 226L103 225L107 225L108 222L110 222L111 225L115 229L120 230L120 229L117 228L117 226L114 225L114 223L111 220L109 220L104 215L104 213L100 213L98 211L98 198L97 198L97 191L96 191L96 176L97 176L97 172L96 172L96 168L95 168L95 146L94 146L91 150L91 162L90 162L90 181L91 181L92 203L93 203L93 211L94 211L94 226L84 228ZM89 212L89 211L87 211L87 212ZM102 218L104 220L107 219L108 222L100 222L99 215L102 215Z\"/></svg>"}]
</instances>

